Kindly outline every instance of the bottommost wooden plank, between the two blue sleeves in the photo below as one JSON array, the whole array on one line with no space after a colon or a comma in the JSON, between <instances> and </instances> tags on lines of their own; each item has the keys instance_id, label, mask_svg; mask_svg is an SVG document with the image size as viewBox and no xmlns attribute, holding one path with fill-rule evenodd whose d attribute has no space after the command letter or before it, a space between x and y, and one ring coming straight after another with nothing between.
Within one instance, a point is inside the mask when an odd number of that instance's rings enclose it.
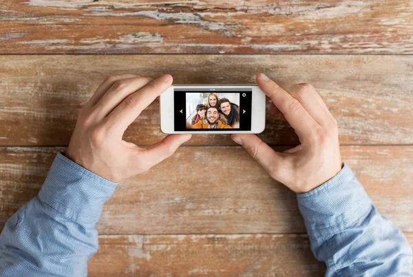
<instances>
[{"instance_id":1,"label":"bottommost wooden plank, between the two blue sleeves","mask_svg":"<svg viewBox=\"0 0 413 277\"><path fill-rule=\"evenodd\" d=\"M88 276L324 276L306 235L99 236Z\"/></svg>"}]
</instances>

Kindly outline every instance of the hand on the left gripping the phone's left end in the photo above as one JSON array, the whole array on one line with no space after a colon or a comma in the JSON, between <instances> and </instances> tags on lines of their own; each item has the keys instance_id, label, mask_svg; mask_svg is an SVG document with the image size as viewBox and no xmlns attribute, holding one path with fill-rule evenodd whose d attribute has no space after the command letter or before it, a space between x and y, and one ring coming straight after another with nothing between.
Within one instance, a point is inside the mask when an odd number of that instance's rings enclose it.
<instances>
[{"instance_id":1,"label":"hand on the left gripping the phone's left end","mask_svg":"<svg viewBox=\"0 0 413 277\"><path fill-rule=\"evenodd\" d=\"M129 74L106 78L81 109L66 157L118 182L171 156L191 135L167 135L147 148L122 140L127 127L171 84L168 74L156 80Z\"/></svg>"}]
</instances>

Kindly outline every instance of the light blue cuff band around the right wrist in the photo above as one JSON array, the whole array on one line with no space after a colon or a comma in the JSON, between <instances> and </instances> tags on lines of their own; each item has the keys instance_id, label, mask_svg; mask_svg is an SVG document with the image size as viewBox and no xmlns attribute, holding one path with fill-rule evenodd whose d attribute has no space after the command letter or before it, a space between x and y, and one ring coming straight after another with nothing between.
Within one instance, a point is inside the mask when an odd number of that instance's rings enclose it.
<instances>
[{"instance_id":1,"label":"light blue cuff band around the right wrist","mask_svg":"<svg viewBox=\"0 0 413 277\"><path fill-rule=\"evenodd\" d=\"M326 183L297 194L308 236L324 237L349 228L364 219L372 209L363 186L347 164Z\"/></svg>"}]
</instances>

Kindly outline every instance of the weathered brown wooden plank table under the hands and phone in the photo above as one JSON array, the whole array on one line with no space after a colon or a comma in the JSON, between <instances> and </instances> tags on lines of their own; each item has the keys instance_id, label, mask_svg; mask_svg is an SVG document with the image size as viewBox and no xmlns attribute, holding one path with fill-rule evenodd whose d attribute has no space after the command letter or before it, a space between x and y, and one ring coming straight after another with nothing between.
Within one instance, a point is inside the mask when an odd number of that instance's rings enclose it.
<instances>
[{"instance_id":1,"label":"weathered brown wooden plank table under the hands and phone","mask_svg":"<svg viewBox=\"0 0 413 277\"><path fill-rule=\"evenodd\" d=\"M261 71L316 87L337 118L343 161L413 244L412 12L409 0L1 1L0 228L39 192L105 76L254 83ZM260 137L273 148L298 143L288 124L266 120ZM159 121L156 100L125 140L158 142ZM228 135L194 135L121 182L97 228L89 276L326 270L295 194Z\"/></svg>"}]
</instances>

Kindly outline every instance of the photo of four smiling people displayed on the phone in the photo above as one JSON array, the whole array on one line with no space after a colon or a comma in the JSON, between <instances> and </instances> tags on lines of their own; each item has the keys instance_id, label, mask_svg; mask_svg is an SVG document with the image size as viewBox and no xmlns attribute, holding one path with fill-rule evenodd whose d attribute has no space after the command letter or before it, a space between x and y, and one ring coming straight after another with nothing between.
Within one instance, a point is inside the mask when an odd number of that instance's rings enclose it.
<instances>
[{"instance_id":1,"label":"photo of four smiling people displayed on the phone","mask_svg":"<svg viewBox=\"0 0 413 277\"><path fill-rule=\"evenodd\" d=\"M240 129L240 93L187 92L187 129Z\"/></svg>"}]
</instances>

